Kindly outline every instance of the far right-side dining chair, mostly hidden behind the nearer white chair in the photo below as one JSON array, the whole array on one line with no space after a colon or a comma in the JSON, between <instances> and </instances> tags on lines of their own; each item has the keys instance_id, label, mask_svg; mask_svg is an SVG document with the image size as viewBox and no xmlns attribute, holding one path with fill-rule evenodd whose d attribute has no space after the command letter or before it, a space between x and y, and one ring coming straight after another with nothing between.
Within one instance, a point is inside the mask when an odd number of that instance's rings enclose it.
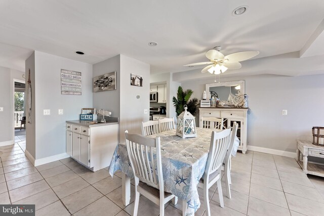
<instances>
[{"instance_id":1,"label":"far right-side dining chair, mostly hidden behind the nearer white chair","mask_svg":"<svg viewBox=\"0 0 324 216\"><path fill-rule=\"evenodd\" d=\"M231 198L231 190L229 186L231 184L231 153L234 147L237 128L238 128L238 124L234 122L231 131L231 139L229 142L229 147L226 152L226 156L224 160L224 175L225 175L225 184L226 184L226 194L228 198Z\"/></svg>"}]
</instances>

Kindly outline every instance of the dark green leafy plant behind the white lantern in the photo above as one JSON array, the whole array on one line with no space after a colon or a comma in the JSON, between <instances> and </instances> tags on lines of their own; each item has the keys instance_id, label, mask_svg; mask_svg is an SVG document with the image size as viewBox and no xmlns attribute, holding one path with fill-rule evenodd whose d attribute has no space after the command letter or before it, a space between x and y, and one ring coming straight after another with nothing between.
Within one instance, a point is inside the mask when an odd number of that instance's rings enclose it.
<instances>
[{"instance_id":1,"label":"dark green leafy plant behind the white lantern","mask_svg":"<svg viewBox=\"0 0 324 216\"><path fill-rule=\"evenodd\" d=\"M192 116L196 116L198 114L199 100L196 97L190 99L192 93L193 91L191 89L183 91L181 86L178 87L177 97L172 98L177 116L184 111L184 105L187 105L187 111L190 112Z\"/></svg>"}]
</instances>

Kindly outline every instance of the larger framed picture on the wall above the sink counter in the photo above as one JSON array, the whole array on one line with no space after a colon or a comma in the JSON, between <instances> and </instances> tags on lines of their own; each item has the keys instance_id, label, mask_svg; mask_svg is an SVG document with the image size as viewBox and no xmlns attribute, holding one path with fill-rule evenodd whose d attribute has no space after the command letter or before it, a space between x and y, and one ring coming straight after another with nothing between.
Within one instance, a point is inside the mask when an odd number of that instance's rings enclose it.
<instances>
[{"instance_id":1,"label":"larger framed picture on the wall above the sink counter","mask_svg":"<svg viewBox=\"0 0 324 216\"><path fill-rule=\"evenodd\" d=\"M116 86L116 72L100 75L92 79L93 92L115 90Z\"/></svg>"}]
</instances>

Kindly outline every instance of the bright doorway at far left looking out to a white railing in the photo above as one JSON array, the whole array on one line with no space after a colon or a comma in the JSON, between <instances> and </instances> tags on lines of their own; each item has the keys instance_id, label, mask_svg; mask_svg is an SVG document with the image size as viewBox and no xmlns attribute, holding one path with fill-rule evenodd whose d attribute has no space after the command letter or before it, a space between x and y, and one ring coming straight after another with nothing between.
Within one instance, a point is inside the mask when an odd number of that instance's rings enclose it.
<instances>
[{"instance_id":1,"label":"bright doorway at far left looking out to a white railing","mask_svg":"<svg viewBox=\"0 0 324 216\"><path fill-rule=\"evenodd\" d=\"M26 139L25 83L14 82L14 130L15 143Z\"/></svg>"}]
</instances>

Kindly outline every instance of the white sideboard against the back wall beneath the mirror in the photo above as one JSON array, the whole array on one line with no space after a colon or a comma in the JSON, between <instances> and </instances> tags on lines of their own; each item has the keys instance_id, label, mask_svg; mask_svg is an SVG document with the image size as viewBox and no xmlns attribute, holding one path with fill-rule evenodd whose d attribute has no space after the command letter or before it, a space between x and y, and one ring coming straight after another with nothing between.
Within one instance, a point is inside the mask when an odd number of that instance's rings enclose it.
<instances>
[{"instance_id":1,"label":"white sideboard against the back wall beneath the mirror","mask_svg":"<svg viewBox=\"0 0 324 216\"><path fill-rule=\"evenodd\" d=\"M245 154L248 147L248 110L249 108L199 108L199 127L202 127L201 117L222 118L224 120L223 129L227 129L227 127L233 126L233 122L236 122L238 124L236 136L240 141L238 150L241 150L242 153Z\"/></svg>"}]
</instances>

